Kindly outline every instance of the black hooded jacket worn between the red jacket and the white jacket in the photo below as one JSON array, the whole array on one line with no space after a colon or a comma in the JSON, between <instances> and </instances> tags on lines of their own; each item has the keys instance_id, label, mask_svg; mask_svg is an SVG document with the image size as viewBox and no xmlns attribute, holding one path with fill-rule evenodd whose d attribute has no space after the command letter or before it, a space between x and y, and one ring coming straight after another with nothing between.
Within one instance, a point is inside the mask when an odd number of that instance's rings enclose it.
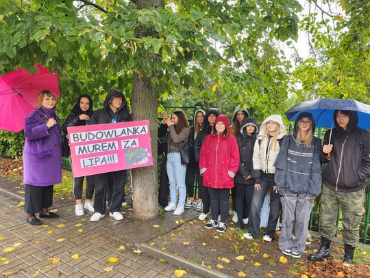
<instances>
[{"instance_id":1,"label":"black hooded jacket worn between the red jacket and the white jacket","mask_svg":"<svg viewBox=\"0 0 370 278\"><path fill-rule=\"evenodd\" d=\"M249 136L245 130L245 127L248 125L253 125L255 127L254 133ZM251 175L253 170L253 150L254 150L254 142L257 139L258 134L258 124L253 117L247 117L243 124L240 127L240 135L236 137L236 141L238 141L238 148L239 148L239 155L240 155L240 163L238 173L234 178L234 182L238 184L254 184L254 178L250 180L245 180L245 177Z\"/></svg>"}]
</instances>

